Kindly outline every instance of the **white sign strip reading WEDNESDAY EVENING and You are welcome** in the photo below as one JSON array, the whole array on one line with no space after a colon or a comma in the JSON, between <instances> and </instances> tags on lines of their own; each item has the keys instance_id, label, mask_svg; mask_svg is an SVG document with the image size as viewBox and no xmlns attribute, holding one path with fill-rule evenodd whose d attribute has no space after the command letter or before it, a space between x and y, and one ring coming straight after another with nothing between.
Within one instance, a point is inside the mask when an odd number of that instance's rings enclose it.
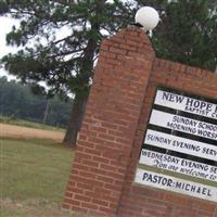
<instances>
[{"instance_id":1,"label":"white sign strip reading WEDNESDAY EVENING and You are welcome","mask_svg":"<svg viewBox=\"0 0 217 217\"><path fill-rule=\"evenodd\" d=\"M209 181L217 181L216 166L189 161L178 156L171 156L142 149L139 163Z\"/></svg>"}]
</instances>

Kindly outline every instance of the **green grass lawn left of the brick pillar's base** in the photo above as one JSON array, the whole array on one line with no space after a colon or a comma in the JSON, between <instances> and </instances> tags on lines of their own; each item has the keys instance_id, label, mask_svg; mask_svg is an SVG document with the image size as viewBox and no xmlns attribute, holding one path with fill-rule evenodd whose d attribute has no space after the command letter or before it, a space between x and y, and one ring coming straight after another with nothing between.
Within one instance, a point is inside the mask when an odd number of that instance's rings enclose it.
<instances>
[{"instance_id":1,"label":"green grass lawn left of the brick pillar's base","mask_svg":"<svg viewBox=\"0 0 217 217\"><path fill-rule=\"evenodd\" d=\"M0 138L0 216L72 216L60 204L73 155L72 149L52 140Z\"/></svg>"}]
</instances>

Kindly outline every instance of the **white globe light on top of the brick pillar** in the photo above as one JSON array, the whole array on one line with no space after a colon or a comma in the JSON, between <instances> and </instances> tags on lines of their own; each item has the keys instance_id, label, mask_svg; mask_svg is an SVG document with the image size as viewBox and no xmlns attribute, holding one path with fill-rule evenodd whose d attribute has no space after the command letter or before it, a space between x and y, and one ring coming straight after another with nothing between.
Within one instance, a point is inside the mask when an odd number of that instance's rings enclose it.
<instances>
[{"instance_id":1,"label":"white globe light on top of the brick pillar","mask_svg":"<svg viewBox=\"0 0 217 217\"><path fill-rule=\"evenodd\" d=\"M145 30L152 30L159 22L157 11L151 7L142 7L136 13L135 21L144 27Z\"/></svg>"}]
</instances>

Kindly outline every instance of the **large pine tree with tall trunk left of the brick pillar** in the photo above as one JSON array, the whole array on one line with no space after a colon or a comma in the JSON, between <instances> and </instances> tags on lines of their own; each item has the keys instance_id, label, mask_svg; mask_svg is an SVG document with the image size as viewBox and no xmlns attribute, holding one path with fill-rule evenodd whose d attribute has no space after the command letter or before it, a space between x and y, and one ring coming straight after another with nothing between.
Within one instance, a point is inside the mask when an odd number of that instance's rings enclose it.
<instances>
[{"instance_id":1,"label":"large pine tree with tall trunk left of the brick pillar","mask_svg":"<svg viewBox=\"0 0 217 217\"><path fill-rule=\"evenodd\" d=\"M75 144L92 78L99 44L105 35L128 25L131 4L120 0L8 0L9 14L21 20L7 36L8 44L25 46L2 59L23 82L46 81L49 95L74 93L64 142ZM65 28L67 27L67 28ZM68 34L56 38L56 31ZM29 44L30 43L30 44ZM38 88L41 90L41 88Z\"/></svg>"}]
</instances>

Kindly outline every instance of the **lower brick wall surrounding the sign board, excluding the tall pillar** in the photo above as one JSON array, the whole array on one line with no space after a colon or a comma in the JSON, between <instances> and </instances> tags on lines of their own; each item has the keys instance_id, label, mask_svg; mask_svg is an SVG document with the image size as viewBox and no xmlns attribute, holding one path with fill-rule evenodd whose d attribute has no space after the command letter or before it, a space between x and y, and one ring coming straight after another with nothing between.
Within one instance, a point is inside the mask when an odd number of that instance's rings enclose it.
<instances>
[{"instance_id":1,"label":"lower brick wall surrounding the sign board, excluding the tall pillar","mask_svg":"<svg viewBox=\"0 0 217 217\"><path fill-rule=\"evenodd\" d=\"M156 86L162 85L217 99L217 75L200 68L155 59L138 125L118 216L123 217L217 217L217 202L182 194L140 188L133 184L135 170Z\"/></svg>"}]
</instances>

